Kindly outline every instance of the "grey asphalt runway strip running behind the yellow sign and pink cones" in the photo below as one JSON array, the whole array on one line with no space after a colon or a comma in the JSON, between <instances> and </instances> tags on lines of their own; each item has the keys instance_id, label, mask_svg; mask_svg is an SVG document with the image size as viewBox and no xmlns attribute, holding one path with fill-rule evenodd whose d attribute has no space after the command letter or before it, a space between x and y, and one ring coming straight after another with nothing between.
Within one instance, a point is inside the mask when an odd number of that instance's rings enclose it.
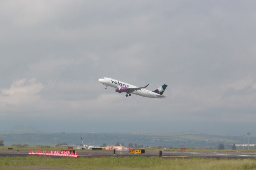
<instances>
[{"instance_id":1,"label":"grey asphalt runway strip running behind the yellow sign and pink cones","mask_svg":"<svg viewBox=\"0 0 256 170\"><path fill-rule=\"evenodd\" d=\"M29 151L10 151L0 150L0 157L6 156L28 156ZM113 151L77 151L80 157L107 157L114 156ZM145 151L145 154L134 154L129 151L116 151L115 156L146 156L146 157L159 157L159 151ZM204 157L204 158L236 158L236 159L248 159L254 158L253 152L181 152L181 151L163 151L163 158L192 158L192 157Z\"/></svg>"}]
</instances>

